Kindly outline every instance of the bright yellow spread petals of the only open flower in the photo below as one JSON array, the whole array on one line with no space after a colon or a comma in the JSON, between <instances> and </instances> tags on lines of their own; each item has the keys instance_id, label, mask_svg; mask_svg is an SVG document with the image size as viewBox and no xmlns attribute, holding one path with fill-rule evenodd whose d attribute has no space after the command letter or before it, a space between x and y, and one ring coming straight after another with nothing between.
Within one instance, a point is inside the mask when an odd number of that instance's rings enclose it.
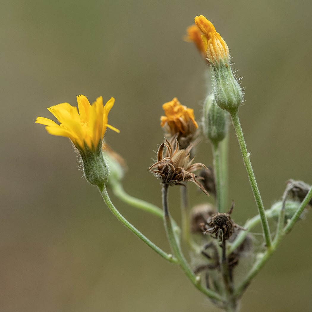
<instances>
[{"instance_id":1,"label":"bright yellow spread petals of the only open flower","mask_svg":"<svg viewBox=\"0 0 312 312\"><path fill-rule=\"evenodd\" d=\"M83 149L85 143L95 151L104 137L106 127L119 133L118 129L107 124L107 116L115 99L112 97L104 106L103 98L100 96L90 105L84 95L79 95L77 102L79 113L76 106L71 106L68 103L48 108L60 124L44 117L38 117L36 123L46 125L46 130L50 134L70 138L80 149Z\"/></svg>"}]
</instances>

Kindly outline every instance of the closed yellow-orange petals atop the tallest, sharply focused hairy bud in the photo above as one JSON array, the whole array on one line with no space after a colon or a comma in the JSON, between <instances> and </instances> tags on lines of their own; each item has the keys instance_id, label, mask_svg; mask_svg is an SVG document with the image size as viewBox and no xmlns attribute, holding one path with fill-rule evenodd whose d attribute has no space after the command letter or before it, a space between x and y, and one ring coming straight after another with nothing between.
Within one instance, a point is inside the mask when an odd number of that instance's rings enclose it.
<instances>
[{"instance_id":1,"label":"closed yellow-orange petals atop the tallest, sharply focused hairy bud","mask_svg":"<svg viewBox=\"0 0 312 312\"><path fill-rule=\"evenodd\" d=\"M207 51L208 59L213 63L219 63L220 59L229 58L229 48L220 34L216 32L216 28L214 28L212 23L206 17L200 15L195 17L195 24L203 33L202 41Z\"/></svg>"}]
</instances>

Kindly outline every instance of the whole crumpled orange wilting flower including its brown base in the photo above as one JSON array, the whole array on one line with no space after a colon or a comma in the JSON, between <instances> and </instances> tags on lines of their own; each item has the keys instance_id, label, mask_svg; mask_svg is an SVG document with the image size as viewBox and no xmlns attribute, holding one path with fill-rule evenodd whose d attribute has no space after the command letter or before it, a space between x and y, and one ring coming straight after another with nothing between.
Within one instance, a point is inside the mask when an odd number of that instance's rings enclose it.
<instances>
[{"instance_id":1,"label":"whole crumpled orange wilting flower including its brown base","mask_svg":"<svg viewBox=\"0 0 312 312\"><path fill-rule=\"evenodd\" d=\"M163 104L166 116L161 116L161 126L167 131L168 137L178 140L183 149L196 137L198 124L195 121L194 110L187 108L174 98Z\"/></svg>"}]
</instances>

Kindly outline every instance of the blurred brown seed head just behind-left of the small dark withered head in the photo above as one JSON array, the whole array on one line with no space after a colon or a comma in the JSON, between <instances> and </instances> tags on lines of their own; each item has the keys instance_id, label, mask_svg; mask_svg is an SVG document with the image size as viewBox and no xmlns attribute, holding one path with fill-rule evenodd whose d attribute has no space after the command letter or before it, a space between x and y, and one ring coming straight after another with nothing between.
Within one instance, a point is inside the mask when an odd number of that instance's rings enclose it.
<instances>
[{"instance_id":1,"label":"blurred brown seed head just behind-left of the small dark withered head","mask_svg":"<svg viewBox=\"0 0 312 312\"><path fill-rule=\"evenodd\" d=\"M194 206L191 210L191 231L202 233L200 224L205 224L214 213L216 213L215 206L207 202Z\"/></svg>"}]
</instances>

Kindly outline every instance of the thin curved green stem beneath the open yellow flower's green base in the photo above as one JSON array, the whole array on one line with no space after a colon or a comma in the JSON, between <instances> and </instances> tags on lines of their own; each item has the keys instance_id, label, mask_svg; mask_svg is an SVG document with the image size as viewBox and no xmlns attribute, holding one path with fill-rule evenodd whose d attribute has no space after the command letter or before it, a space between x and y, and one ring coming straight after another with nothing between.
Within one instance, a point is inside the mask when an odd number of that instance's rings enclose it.
<instances>
[{"instance_id":1,"label":"thin curved green stem beneath the open yellow flower's green base","mask_svg":"<svg viewBox=\"0 0 312 312\"><path fill-rule=\"evenodd\" d=\"M110 200L110 197L108 196L108 193L106 191L105 186L100 189L100 192L102 194L102 197L106 203L106 205L110 208L111 212L114 213L114 215L118 218L118 220L123 223L130 231L132 231L136 236L138 236L142 241L144 241L145 244L147 244L149 247L151 247L154 251L158 253L158 255L162 256L164 259L172 262L172 263L178 263L178 259L173 257L171 254L167 254L166 252L162 251L158 246L156 246L154 243L152 243L146 236L144 236L139 230L137 230L130 222L128 222L121 214L120 212L115 208L113 203Z\"/></svg>"}]
</instances>

